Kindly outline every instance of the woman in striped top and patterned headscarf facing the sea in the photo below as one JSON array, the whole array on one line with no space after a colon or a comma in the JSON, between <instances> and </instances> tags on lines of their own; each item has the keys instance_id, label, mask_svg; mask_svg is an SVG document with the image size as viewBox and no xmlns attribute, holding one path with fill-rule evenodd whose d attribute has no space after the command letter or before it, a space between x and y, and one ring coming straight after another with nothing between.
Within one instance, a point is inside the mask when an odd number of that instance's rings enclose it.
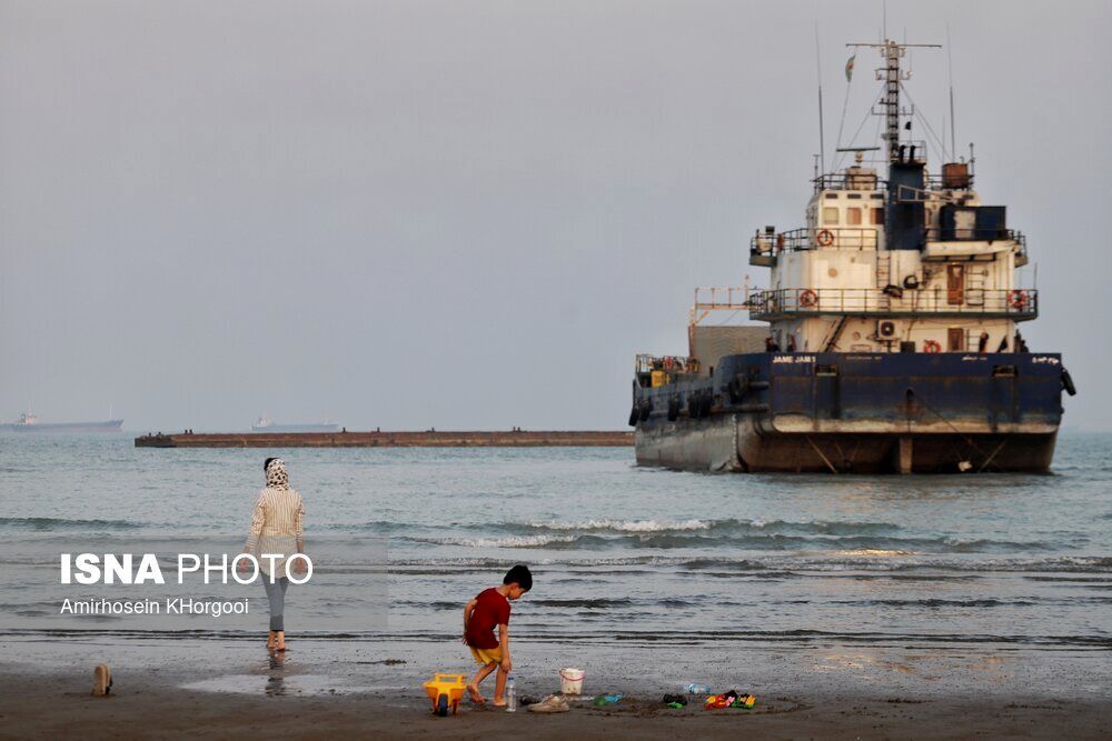
<instances>
[{"instance_id":1,"label":"woman in striped top and patterned headscarf facing the sea","mask_svg":"<svg viewBox=\"0 0 1112 741\"><path fill-rule=\"evenodd\" d=\"M305 542L301 534L301 521L305 519L305 504L301 494L290 489L289 477L286 474L286 463L280 458L268 458L262 463L267 474L267 485L255 500L255 514L251 518L251 532L244 545L244 553L255 555L259 561L262 587L270 602L270 638L267 648L272 651L286 650L286 625L282 622L286 588L289 579L285 577L286 561L294 553L301 553ZM264 559L265 554L277 553L280 558ZM305 560L294 561L294 572L305 572ZM240 570L248 569L248 562L240 561Z\"/></svg>"}]
</instances>

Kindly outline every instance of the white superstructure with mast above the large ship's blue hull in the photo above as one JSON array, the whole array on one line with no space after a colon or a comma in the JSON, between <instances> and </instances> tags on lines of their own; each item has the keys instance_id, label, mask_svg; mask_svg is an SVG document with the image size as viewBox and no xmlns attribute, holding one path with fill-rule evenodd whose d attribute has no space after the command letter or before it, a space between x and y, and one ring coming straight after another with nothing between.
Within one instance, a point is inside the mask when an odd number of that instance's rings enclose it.
<instances>
[{"instance_id":1,"label":"white superstructure with mast above the large ship's blue hull","mask_svg":"<svg viewBox=\"0 0 1112 741\"><path fill-rule=\"evenodd\" d=\"M847 150L853 164L815 179L805 227L757 232L749 263L772 277L748 297L751 317L771 323L782 351L1022 349L1015 324L1037 316L1036 291L1014 280L1027 260L1023 236L972 189L972 161L927 174L925 143L901 139L907 44L861 46L885 59L887 179L864 161L877 148Z\"/></svg>"}]
</instances>

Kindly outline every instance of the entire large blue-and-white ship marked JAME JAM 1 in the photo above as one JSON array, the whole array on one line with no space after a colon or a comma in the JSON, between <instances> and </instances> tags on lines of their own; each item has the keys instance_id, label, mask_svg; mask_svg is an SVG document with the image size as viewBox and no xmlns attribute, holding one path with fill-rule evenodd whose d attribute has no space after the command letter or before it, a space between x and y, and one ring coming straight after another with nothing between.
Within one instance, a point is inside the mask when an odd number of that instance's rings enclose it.
<instances>
[{"instance_id":1,"label":"entire large blue-and-white ship marked JAME JAM 1","mask_svg":"<svg viewBox=\"0 0 1112 741\"><path fill-rule=\"evenodd\" d=\"M935 138L943 164L931 172L926 142L912 139L901 61L925 44L848 46L881 54L880 146L840 148L841 170L816 166L805 227L756 231L748 262L771 270L767 289L697 289L687 354L637 356L637 462L1046 471L1062 391L1076 390L1061 354L1031 351L1019 331L1041 310L1016 280L1026 241L973 189L972 144L959 158ZM722 311L765 323L704 322Z\"/></svg>"}]
</instances>

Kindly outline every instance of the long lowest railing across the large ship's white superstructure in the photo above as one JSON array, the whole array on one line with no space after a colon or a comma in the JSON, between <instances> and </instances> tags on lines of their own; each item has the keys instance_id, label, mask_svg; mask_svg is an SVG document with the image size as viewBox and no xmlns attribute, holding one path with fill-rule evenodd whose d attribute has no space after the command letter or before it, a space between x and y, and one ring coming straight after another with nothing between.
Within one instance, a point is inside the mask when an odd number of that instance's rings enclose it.
<instances>
[{"instance_id":1,"label":"long lowest railing across the large ship's white superstructure","mask_svg":"<svg viewBox=\"0 0 1112 741\"><path fill-rule=\"evenodd\" d=\"M1016 320L1039 316L1039 291L1034 289L904 290L890 288L787 288L749 293L749 318L814 314L994 317Z\"/></svg>"}]
</instances>

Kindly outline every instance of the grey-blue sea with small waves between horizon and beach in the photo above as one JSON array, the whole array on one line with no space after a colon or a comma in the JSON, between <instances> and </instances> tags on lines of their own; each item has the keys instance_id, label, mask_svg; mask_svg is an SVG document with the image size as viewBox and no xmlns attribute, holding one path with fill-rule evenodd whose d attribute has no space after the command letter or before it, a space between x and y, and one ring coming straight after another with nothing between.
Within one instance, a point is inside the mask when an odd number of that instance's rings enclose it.
<instances>
[{"instance_id":1,"label":"grey-blue sea with small waves between horizon and beach","mask_svg":"<svg viewBox=\"0 0 1112 741\"><path fill-rule=\"evenodd\" d=\"M262 461L280 455L317 558L312 580L289 588L287 630L321 664L358 654L415 677L470 671L463 607L524 563L534 587L514 604L515 663L536 647L544 672L595 665L612 685L652 674L668 687L793 655L807 657L798 679L956 651L1021 652L1027 668L1053 655L1068 678L1106 668L1112 649L1110 452L1112 434L1062 433L1041 475L739 475L642 468L614 448L137 449L126 435L8 434L3 661L42 661L48 644L152 662L180 640L254 647L261 587L176 584L173 554L237 553ZM147 552L166 585L60 581L63 553ZM105 594L246 599L250 611L60 612Z\"/></svg>"}]
</instances>

